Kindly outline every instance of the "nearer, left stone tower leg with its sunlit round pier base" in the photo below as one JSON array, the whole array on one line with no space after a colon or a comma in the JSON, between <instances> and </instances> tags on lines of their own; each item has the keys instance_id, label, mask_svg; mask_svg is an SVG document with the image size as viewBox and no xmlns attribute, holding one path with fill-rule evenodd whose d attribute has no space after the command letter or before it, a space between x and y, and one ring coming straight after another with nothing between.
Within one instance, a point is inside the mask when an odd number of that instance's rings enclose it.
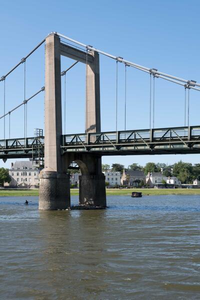
<instances>
[{"instance_id":1,"label":"nearer, left stone tower leg with its sunlit round pier base","mask_svg":"<svg viewBox=\"0 0 200 300\"><path fill-rule=\"evenodd\" d=\"M60 38L55 34L46 37L45 41L44 113L44 169L40 172L39 209L64 209L70 206L70 183L69 175L64 173L60 153Z\"/></svg>"}]
</instances>

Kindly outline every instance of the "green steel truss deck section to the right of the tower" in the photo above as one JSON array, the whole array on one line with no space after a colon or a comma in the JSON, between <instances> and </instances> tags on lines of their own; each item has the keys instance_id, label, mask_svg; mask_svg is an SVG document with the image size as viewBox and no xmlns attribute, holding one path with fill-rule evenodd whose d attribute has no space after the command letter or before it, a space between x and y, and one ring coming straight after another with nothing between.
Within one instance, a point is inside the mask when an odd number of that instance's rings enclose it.
<instances>
[{"instance_id":1,"label":"green steel truss deck section to the right of the tower","mask_svg":"<svg viewBox=\"0 0 200 300\"><path fill-rule=\"evenodd\" d=\"M61 148L101 155L200 153L200 126L66 134Z\"/></svg>"}]
</instances>

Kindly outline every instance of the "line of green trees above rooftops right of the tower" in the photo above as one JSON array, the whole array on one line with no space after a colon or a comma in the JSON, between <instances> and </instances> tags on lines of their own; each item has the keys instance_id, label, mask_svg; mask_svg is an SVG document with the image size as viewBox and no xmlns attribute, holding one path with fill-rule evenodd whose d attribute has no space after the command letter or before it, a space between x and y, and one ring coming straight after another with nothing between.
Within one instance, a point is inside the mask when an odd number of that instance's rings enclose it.
<instances>
[{"instance_id":1,"label":"line of green trees above rooftops right of the tower","mask_svg":"<svg viewBox=\"0 0 200 300\"><path fill-rule=\"evenodd\" d=\"M160 162L147 162L144 166L139 165L138 163L132 163L128 165L127 168L120 163L112 163L111 167L109 164L102 164L102 171L111 170L121 173L123 170L142 170L144 174L147 175L148 172L160 172L161 169L163 169L162 174L164 176L176 176L181 183L193 183L194 179L200 179L200 163L192 164L190 162L183 162L181 160L170 165Z\"/></svg>"}]
</instances>

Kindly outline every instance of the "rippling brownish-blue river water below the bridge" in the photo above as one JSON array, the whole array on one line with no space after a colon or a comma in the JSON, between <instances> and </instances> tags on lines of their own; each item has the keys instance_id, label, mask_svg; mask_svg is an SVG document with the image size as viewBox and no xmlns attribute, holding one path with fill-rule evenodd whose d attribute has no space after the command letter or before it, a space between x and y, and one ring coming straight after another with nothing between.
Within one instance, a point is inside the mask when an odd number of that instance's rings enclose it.
<instances>
[{"instance_id":1,"label":"rippling brownish-blue river water below the bridge","mask_svg":"<svg viewBox=\"0 0 200 300\"><path fill-rule=\"evenodd\" d=\"M0 197L1 300L200 299L200 196L107 196L89 211L25 199Z\"/></svg>"}]
</instances>

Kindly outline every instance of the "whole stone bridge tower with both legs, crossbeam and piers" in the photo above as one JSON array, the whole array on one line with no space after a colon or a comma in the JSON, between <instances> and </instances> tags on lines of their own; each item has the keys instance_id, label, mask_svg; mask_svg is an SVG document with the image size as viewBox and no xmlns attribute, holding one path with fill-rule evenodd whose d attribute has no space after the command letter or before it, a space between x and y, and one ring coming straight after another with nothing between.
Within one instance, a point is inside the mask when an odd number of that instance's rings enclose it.
<instances>
[{"instance_id":1,"label":"whole stone bridge tower with both legs, crossbeam and piers","mask_svg":"<svg viewBox=\"0 0 200 300\"><path fill-rule=\"evenodd\" d=\"M73 48L60 42L56 34L50 34L45 41L44 169L39 175L39 209L65 209L70 206L70 181L66 169L71 161L77 162L81 169L79 203L106 206L101 157L61 152L60 55L86 64L85 132L100 132L98 53Z\"/></svg>"}]
</instances>

